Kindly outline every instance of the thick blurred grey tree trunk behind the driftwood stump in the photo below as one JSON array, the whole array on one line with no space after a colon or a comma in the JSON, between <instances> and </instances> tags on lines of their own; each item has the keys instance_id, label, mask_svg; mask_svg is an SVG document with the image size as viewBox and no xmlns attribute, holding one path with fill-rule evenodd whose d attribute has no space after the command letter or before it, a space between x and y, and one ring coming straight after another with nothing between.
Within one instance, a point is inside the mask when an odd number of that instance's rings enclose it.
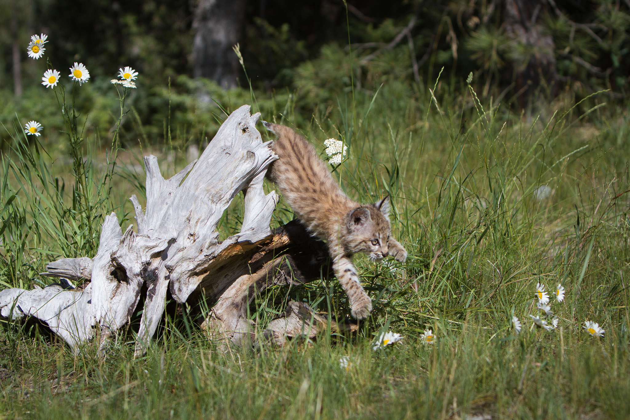
<instances>
[{"instance_id":1,"label":"thick blurred grey tree trunk behind the driftwood stump","mask_svg":"<svg viewBox=\"0 0 630 420\"><path fill-rule=\"evenodd\" d=\"M222 88L237 86L238 59L232 46L241 35L245 0L198 0L193 28L193 76L208 77Z\"/></svg>"}]
</instances>

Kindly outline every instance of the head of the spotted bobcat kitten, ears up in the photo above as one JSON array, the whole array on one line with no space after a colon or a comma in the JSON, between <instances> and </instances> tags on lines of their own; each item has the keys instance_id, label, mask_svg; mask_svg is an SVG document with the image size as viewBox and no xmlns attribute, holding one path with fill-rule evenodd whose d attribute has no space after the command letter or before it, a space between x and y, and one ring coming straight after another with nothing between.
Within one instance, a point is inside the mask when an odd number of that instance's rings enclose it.
<instances>
[{"instance_id":1,"label":"head of the spotted bobcat kitten, ears up","mask_svg":"<svg viewBox=\"0 0 630 420\"><path fill-rule=\"evenodd\" d=\"M355 208L346 217L346 234L341 242L351 254L365 253L374 261L389 254L387 239L391 235L389 224L389 196L374 204Z\"/></svg>"}]
</instances>

